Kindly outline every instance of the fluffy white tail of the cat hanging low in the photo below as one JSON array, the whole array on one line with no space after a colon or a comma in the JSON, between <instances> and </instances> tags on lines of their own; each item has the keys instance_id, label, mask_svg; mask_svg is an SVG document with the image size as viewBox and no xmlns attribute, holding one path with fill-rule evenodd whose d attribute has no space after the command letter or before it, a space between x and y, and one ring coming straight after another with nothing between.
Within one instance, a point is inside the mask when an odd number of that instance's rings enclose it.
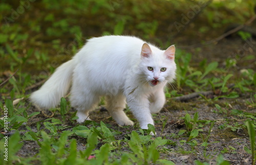
<instances>
[{"instance_id":1,"label":"fluffy white tail of the cat hanging low","mask_svg":"<svg viewBox=\"0 0 256 165\"><path fill-rule=\"evenodd\" d=\"M74 59L59 66L53 75L37 91L31 94L30 100L40 108L52 108L59 104L70 87L75 67Z\"/></svg>"}]
</instances>

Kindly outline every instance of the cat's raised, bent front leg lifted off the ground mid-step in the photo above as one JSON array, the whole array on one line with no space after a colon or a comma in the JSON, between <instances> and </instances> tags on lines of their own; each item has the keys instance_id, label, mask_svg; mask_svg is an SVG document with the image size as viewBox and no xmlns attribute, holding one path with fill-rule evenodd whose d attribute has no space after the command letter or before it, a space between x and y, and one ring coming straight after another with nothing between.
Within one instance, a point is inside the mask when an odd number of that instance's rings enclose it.
<instances>
[{"instance_id":1,"label":"cat's raised, bent front leg lifted off the ground mid-step","mask_svg":"<svg viewBox=\"0 0 256 165\"><path fill-rule=\"evenodd\" d=\"M150 97L150 112L152 114L159 113L165 103L165 94L163 90L159 90Z\"/></svg>"}]
</instances>

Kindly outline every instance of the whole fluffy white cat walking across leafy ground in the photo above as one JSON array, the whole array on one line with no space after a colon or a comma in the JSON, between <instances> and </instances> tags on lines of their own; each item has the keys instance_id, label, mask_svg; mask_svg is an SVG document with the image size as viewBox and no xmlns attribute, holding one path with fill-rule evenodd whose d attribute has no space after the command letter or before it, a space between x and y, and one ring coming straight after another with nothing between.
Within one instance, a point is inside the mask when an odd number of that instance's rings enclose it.
<instances>
[{"instance_id":1,"label":"whole fluffy white cat walking across leafy ground","mask_svg":"<svg viewBox=\"0 0 256 165\"><path fill-rule=\"evenodd\" d=\"M90 120L89 112L105 96L106 109L119 125L133 125L123 112L127 102L140 127L147 129L147 124L154 125L151 113L165 103L165 85L175 78L174 58L174 45L160 50L136 37L92 38L32 93L31 101L41 108L55 107L72 82L77 122Z\"/></svg>"}]
</instances>

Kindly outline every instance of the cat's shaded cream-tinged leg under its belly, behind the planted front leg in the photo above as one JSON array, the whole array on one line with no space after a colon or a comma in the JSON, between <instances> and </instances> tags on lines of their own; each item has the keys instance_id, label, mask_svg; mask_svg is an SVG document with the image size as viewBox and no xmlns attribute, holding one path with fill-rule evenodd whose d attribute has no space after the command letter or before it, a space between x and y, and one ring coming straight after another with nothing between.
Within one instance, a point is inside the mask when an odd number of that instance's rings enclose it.
<instances>
[{"instance_id":1,"label":"cat's shaded cream-tinged leg under its belly, behind the planted front leg","mask_svg":"<svg viewBox=\"0 0 256 165\"><path fill-rule=\"evenodd\" d=\"M126 114L123 112L125 108L126 101L125 97L122 94L118 94L116 96L107 96L106 99L106 109L108 109L112 118L117 122L117 124L123 125L133 125L133 121L131 121Z\"/></svg>"}]
</instances>

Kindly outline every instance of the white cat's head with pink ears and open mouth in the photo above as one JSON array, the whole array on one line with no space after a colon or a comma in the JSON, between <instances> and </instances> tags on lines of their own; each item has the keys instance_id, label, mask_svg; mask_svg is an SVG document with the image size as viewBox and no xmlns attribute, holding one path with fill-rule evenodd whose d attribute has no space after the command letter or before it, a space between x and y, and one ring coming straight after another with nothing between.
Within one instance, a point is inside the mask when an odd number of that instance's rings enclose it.
<instances>
[{"instance_id":1,"label":"white cat's head with pink ears and open mouth","mask_svg":"<svg viewBox=\"0 0 256 165\"><path fill-rule=\"evenodd\" d=\"M141 65L143 81L147 81L152 87L161 83L172 82L175 78L176 64L175 46L169 46L166 50L150 47L144 43L141 48Z\"/></svg>"}]
</instances>

